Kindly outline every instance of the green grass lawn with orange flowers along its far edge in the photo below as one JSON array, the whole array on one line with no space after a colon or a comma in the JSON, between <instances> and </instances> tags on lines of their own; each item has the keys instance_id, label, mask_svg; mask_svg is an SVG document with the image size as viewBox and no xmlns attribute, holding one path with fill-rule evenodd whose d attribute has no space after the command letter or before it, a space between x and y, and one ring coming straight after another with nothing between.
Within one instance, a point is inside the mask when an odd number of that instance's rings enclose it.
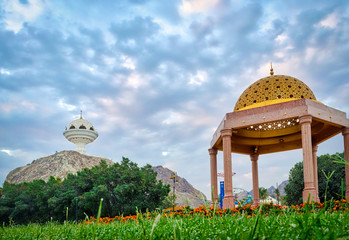
<instances>
[{"instance_id":1,"label":"green grass lawn with orange flowers along its far edge","mask_svg":"<svg viewBox=\"0 0 349 240\"><path fill-rule=\"evenodd\" d=\"M345 200L343 200L345 201ZM9 225L1 239L349 239L348 202L287 209L264 204L233 210L183 208L79 224Z\"/></svg>"}]
</instances>

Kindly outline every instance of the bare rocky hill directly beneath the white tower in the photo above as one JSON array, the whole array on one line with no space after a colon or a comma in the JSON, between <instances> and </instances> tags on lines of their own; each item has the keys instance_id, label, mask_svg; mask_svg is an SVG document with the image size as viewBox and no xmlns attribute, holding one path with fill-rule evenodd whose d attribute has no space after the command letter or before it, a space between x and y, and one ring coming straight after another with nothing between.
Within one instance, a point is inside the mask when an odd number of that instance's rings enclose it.
<instances>
[{"instance_id":1,"label":"bare rocky hill directly beneath the white tower","mask_svg":"<svg viewBox=\"0 0 349 240\"><path fill-rule=\"evenodd\" d=\"M61 151L12 170L7 175L6 181L16 184L31 182L34 179L47 181L50 176L59 177L63 180L69 173L75 174L84 168L92 168L98 165L102 159L108 164L114 163L106 158L88 156L76 151Z\"/></svg>"}]
</instances>

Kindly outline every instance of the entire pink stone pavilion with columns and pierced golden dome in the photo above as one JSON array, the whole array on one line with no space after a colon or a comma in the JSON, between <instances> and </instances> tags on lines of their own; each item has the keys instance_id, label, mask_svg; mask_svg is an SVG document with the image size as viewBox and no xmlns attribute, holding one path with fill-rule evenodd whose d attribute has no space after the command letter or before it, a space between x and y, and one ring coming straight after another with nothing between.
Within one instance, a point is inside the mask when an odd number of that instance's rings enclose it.
<instances>
[{"instance_id":1,"label":"entire pink stone pavilion with columns and pierced golden dome","mask_svg":"<svg viewBox=\"0 0 349 240\"><path fill-rule=\"evenodd\" d=\"M227 113L211 140L211 189L218 201L217 151L223 151L223 208L234 207L231 153L250 156L252 163L253 204L259 205L258 156L293 149L303 150L303 199L319 201L318 144L341 133L344 156L349 162L349 120L346 113L316 100L311 89L297 78L274 75L249 86ZM346 198L349 199L349 167L346 173Z\"/></svg>"}]
</instances>

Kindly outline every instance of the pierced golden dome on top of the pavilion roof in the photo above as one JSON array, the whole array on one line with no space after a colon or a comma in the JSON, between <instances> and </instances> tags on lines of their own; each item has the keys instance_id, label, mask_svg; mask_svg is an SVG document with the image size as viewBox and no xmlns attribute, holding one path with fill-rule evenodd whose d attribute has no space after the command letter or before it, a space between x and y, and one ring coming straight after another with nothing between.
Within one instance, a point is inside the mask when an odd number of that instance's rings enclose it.
<instances>
[{"instance_id":1,"label":"pierced golden dome on top of the pavilion roof","mask_svg":"<svg viewBox=\"0 0 349 240\"><path fill-rule=\"evenodd\" d=\"M316 101L310 88L297 78L271 75L250 85L236 102L234 111L307 98Z\"/></svg>"}]
</instances>

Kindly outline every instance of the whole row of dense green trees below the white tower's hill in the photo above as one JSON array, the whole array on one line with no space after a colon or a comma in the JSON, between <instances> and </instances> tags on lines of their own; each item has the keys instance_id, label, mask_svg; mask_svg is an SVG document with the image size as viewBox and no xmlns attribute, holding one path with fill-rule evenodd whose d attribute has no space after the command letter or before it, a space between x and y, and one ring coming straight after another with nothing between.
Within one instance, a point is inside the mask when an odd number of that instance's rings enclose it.
<instances>
[{"instance_id":1,"label":"whole row of dense green trees below the white tower's hill","mask_svg":"<svg viewBox=\"0 0 349 240\"><path fill-rule=\"evenodd\" d=\"M162 206L170 191L169 185L156 180L150 165L138 167L123 158L111 166L102 161L91 169L68 175L64 181L51 177L48 182L5 182L0 198L0 221L12 218L16 223L64 221L66 208L69 220L75 215L83 219L84 213L96 216L101 198L104 199L102 216L135 214ZM76 212L76 209L78 211Z\"/></svg>"}]
</instances>

